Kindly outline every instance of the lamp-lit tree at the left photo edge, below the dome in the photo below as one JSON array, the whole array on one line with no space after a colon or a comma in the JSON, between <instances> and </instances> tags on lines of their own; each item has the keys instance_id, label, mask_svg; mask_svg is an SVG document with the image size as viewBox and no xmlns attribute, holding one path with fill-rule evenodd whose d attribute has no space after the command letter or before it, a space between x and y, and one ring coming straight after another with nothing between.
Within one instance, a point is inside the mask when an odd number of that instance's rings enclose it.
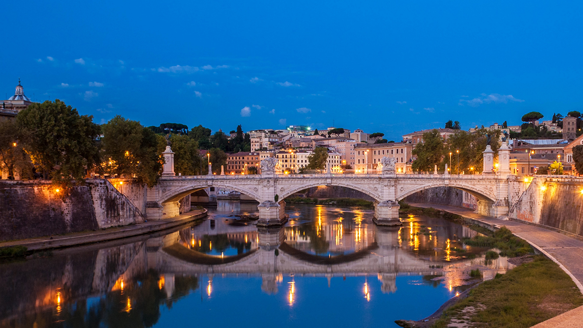
<instances>
[{"instance_id":1,"label":"lamp-lit tree at the left photo edge, below the dome","mask_svg":"<svg viewBox=\"0 0 583 328\"><path fill-rule=\"evenodd\" d=\"M32 179L30 156L24 151L23 142L19 141L24 139L21 137L23 133L13 120L0 122L0 166L9 177Z\"/></svg>"}]
</instances>

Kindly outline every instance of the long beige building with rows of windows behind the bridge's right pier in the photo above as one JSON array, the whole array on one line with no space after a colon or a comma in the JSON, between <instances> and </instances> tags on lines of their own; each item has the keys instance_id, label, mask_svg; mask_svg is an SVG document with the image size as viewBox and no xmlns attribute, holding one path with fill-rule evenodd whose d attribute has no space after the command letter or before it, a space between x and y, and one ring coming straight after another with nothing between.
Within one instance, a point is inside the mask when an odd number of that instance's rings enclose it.
<instances>
[{"instance_id":1,"label":"long beige building with rows of windows behind the bridge's right pier","mask_svg":"<svg viewBox=\"0 0 583 328\"><path fill-rule=\"evenodd\" d=\"M357 144L354 147L356 152L355 173L376 173L377 165L381 158L387 156L396 158L396 173L413 173L411 164L415 160L412 155L413 145L411 142L388 142L386 144Z\"/></svg>"}]
</instances>

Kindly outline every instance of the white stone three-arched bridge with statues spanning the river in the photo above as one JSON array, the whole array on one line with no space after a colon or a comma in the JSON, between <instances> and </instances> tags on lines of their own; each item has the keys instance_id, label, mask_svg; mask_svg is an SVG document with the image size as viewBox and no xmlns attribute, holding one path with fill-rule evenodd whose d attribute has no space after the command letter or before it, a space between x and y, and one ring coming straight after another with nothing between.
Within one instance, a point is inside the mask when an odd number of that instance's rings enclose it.
<instances>
[{"instance_id":1,"label":"white stone three-arched bridge with statues spanning the river","mask_svg":"<svg viewBox=\"0 0 583 328\"><path fill-rule=\"evenodd\" d=\"M525 190L522 180L510 172L510 148L503 142L498 149L498 170L494 171L494 152L490 145L483 152L481 175L450 175L447 165L444 174L399 174L395 159L382 158L374 174L282 174L277 159L261 161L261 175L176 176L174 153L170 146L163 152L166 163L159 183L147 191L146 215L163 219L179 214L178 201L196 190L222 187L246 194L259 202L258 226L285 224L285 198L298 191L316 186L342 186L361 191L374 198L374 221L378 225L399 225L398 201L417 191L433 187L454 187L477 199L477 212L493 217L508 215Z\"/></svg>"}]
</instances>

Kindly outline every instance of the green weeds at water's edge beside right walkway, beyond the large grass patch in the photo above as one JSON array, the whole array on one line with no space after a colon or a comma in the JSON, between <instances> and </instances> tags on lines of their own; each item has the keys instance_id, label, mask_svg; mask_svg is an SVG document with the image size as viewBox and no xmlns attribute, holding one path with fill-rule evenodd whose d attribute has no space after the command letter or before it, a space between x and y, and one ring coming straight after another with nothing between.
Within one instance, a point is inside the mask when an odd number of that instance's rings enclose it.
<instances>
[{"instance_id":1,"label":"green weeds at water's edge beside right walkway, beyond the large grass patch","mask_svg":"<svg viewBox=\"0 0 583 328\"><path fill-rule=\"evenodd\" d=\"M510 229L503 226L494 232L493 236L475 236L465 238L463 243L469 246L494 247L500 250L501 256L515 257L532 253L532 247L524 240L512 235Z\"/></svg>"}]
</instances>

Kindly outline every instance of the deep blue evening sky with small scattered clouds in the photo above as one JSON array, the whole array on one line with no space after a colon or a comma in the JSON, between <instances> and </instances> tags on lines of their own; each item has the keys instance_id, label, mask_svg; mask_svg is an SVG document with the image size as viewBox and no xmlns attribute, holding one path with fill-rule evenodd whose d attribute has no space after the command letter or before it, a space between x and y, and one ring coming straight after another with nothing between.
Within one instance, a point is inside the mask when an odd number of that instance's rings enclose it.
<instances>
[{"instance_id":1,"label":"deep blue evening sky with small scattered clouds","mask_svg":"<svg viewBox=\"0 0 583 328\"><path fill-rule=\"evenodd\" d=\"M7 1L17 79L101 123L289 124L388 139L583 109L582 2Z\"/></svg>"}]
</instances>

